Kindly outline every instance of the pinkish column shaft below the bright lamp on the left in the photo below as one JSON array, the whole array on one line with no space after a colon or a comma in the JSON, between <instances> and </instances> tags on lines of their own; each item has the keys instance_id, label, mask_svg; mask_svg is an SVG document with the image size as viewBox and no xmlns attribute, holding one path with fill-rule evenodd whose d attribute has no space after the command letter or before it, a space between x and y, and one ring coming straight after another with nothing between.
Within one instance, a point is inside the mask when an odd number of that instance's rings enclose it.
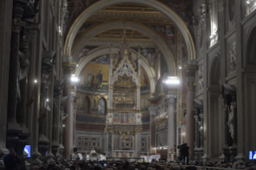
<instances>
[{"instance_id":1,"label":"pinkish column shaft below the bright lamp on the left","mask_svg":"<svg viewBox=\"0 0 256 170\"><path fill-rule=\"evenodd\" d=\"M67 95L67 107L65 112L68 116L63 123L65 125L63 133L63 146L65 148L63 158L69 159L71 153L73 152L73 107L75 97L71 95L71 86L69 84L66 84L66 87L64 87L64 95Z\"/></svg>"}]
</instances>

